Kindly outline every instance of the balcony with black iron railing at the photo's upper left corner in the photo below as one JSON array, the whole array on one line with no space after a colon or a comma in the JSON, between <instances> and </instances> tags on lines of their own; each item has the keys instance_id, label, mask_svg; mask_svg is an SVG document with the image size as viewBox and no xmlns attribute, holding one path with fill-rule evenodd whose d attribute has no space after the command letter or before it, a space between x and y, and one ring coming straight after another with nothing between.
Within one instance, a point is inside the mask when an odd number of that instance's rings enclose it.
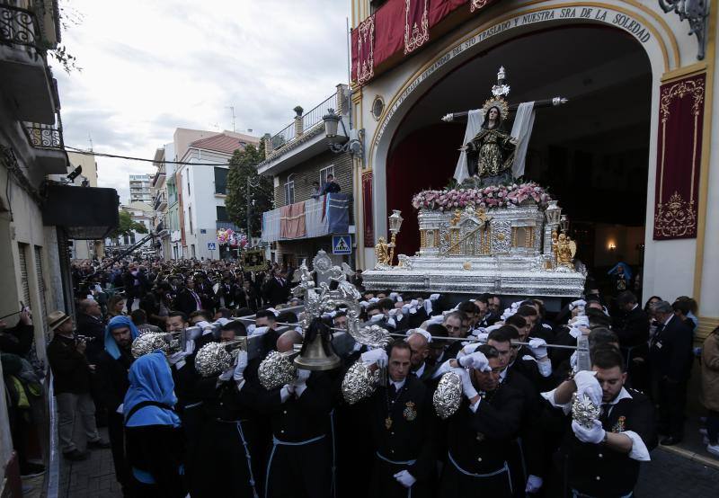
<instances>
[{"instance_id":1,"label":"balcony with black iron railing at the photo's upper left corner","mask_svg":"<svg viewBox=\"0 0 719 498\"><path fill-rule=\"evenodd\" d=\"M55 120L59 99L45 55L49 44L35 13L0 4L0 86L17 120L43 124Z\"/></svg>"}]
</instances>

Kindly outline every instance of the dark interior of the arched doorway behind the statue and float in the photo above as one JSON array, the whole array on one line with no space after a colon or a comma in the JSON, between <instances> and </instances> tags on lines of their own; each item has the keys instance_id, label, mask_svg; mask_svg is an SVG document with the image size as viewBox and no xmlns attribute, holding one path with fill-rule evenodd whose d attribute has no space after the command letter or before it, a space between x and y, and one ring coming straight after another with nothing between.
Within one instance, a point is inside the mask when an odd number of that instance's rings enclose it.
<instances>
[{"instance_id":1,"label":"dark interior of the arched doorway behind the statue and float","mask_svg":"<svg viewBox=\"0 0 719 498\"><path fill-rule=\"evenodd\" d=\"M418 248L413 193L444 187L457 163L465 123L441 116L481 107L500 66L512 103L570 99L537 110L526 177L548 187L573 219L580 259L598 274L619 255L641 267L652 67L634 37L593 24L525 33L476 53L407 111L386 156L387 214L402 209L405 218L398 253Z\"/></svg>"}]
</instances>

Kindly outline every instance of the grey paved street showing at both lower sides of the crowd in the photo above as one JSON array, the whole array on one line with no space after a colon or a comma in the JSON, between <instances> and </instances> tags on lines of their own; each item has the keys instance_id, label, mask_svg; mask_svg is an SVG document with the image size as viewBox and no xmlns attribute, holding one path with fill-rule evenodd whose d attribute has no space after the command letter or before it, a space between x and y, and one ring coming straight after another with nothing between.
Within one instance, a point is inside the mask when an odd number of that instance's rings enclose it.
<instances>
[{"instance_id":1,"label":"grey paved street showing at both lower sides of the crowd","mask_svg":"<svg viewBox=\"0 0 719 498\"><path fill-rule=\"evenodd\" d=\"M103 437L106 437L106 431ZM60 464L59 498L120 498L110 449L94 450L84 462ZM710 498L719 496L719 469L706 467L665 449L652 452L636 488L637 498ZM337 498L342 498L337 497ZM379 498L379 497L373 497Z\"/></svg>"}]
</instances>

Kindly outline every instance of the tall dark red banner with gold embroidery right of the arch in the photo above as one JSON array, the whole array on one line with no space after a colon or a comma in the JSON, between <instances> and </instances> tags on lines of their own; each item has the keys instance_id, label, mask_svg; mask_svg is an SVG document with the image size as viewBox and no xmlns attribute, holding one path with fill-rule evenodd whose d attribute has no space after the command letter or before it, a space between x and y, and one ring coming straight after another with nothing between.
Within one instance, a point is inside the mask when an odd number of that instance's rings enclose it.
<instances>
[{"instance_id":1,"label":"tall dark red banner with gold embroidery right of the arch","mask_svg":"<svg viewBox=\"0 0 719 498\"><path fill-rule=\"evenodd\" d=\"M695 238L706 74L662 84L654 240Z\"/></svg>"}]
</instances>

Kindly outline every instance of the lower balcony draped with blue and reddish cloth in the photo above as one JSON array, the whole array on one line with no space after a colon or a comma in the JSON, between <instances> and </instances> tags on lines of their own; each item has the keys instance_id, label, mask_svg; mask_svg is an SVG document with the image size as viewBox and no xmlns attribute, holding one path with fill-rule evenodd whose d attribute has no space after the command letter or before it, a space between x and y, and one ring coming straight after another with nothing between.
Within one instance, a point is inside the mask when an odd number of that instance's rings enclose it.
<instances>
[{"instance_id":1,"label":"lower balcony draped with blue and reddish cloth","mask_svg":"<svg viewBox=\"0 0 719 498\"><path fill-rule=\"evenodd\" d=\"M262 242L351 232L351 196L330 193L262 213Z\"/></svg>"}]
</instances>

